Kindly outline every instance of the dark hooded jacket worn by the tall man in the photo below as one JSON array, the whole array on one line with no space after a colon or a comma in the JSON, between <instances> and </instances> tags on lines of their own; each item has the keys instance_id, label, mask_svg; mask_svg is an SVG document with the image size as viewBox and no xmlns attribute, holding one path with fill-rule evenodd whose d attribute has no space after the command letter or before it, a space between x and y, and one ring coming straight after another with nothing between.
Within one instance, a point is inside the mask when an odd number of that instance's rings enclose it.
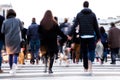
<instances>
[{"instance_id":1,"label":"dark hooded jacket worn by the tall man","mask_svg":"<svg viewBox=\"0 0 120 80\"><path fill-rule=\"evenodd\" d=\"M91 9L85 8L77 14L71 34L74 32L75 27L77 25L80 26L80 30L79 30L80 36L96 34L97 39L100 38L100 32L98 28L96 15L91 11Z\"/></svg>"}]
</instances>

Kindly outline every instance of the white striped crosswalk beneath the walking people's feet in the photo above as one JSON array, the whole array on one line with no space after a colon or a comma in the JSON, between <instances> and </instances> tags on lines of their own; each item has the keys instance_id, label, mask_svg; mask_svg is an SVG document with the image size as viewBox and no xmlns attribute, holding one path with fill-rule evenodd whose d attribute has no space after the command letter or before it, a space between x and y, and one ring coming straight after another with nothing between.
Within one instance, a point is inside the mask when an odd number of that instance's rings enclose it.
<instances>
[{"instance_id":1,"label":"white striped crosswalk beneath the walking people's feet","mask_svg":"<svg viewBox=\"0 0 120 80\"><path fill-rule=\"evenodd\" d=\"M75 78L89 80L89 77L94 80L99 80L101 77L103 79L106 78L106 80L110 80L111 77L120 80L120 63L116 65L94 63L92 75L83 71L82 63L70 63L69 66L66 66L65 63L61 65L54 63L53 74L44 73L44 64L42 63L39 65L31 65L29 63L18 65L18 69L14 75L9 74L10 69L8 63L3 64L2 69L4 72L0 73L0 80L67 80L68 78L70 80Z\"/></svg>"}]
</instances>

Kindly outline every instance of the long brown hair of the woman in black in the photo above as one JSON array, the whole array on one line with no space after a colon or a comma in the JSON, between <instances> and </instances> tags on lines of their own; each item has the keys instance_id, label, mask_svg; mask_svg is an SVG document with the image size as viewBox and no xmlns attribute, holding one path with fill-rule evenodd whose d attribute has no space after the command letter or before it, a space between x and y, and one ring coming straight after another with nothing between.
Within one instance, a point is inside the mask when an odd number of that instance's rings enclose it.
<instances>
[{"instance_id":1,"label":"long brown hair of the woman in black","mask_svg":"<svg viewBox=\"0 0 120 80\"><path fill-rule=\"evenodd\" d=\"M51 10L47 10L45 12L44 17L40 22L40 25L42 25L43 28L46 30L50 30L54 25L57 25L57 22L54 19Z\"/></svg>"}]
</instances>

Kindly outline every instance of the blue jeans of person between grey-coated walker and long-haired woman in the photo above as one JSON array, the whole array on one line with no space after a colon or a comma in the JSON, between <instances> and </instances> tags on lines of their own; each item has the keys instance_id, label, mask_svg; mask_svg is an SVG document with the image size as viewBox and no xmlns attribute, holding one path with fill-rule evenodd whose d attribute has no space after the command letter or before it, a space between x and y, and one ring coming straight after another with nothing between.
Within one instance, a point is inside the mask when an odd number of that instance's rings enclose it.
<instances>
[{"instance_id":1,"label":"blue jeans of person between grey-coated walker and long-haired woman","mask_svg":"<svg viewBox=\"0 0 120 80\"><path fill-rule=\"evenodd\" d=\"M30 41L30 49L32 53L32 59L39 58L39 48L40 48L40 40L31 40Z\"/></svg>"}]
</instances>

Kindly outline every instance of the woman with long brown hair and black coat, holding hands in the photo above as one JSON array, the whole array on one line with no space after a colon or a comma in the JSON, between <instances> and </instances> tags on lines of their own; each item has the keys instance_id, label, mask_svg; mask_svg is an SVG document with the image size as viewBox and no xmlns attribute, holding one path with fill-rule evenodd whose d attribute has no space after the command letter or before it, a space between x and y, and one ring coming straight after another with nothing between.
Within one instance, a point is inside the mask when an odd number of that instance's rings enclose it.
<instances>
[{"instance_id":1,"label":"woman with long brown hair and black coat, holding hands","mask_svg":"<svg viewBox=\"0 0 120 80\"><path fill-rule=\"evenodd\" d=\"M53 73L52 66L54 62L54 56L56 53L58 53L57 35L62 37L61 43L67 40L67 36L60 30L51 10L47 10L45 12L44 17L40 22L38 31L41 37L41 46L44 46L46 49L45 72L47 72L47 62L48 58L50 58L48 72Z\"/></svg>"}]
</instances>

